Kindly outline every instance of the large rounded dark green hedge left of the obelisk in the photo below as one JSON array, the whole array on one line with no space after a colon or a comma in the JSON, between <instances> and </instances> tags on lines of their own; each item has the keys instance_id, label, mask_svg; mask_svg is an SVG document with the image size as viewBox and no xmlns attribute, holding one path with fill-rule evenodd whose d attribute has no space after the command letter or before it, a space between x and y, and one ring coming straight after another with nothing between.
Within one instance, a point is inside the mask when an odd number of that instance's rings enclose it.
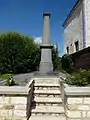
<instances>
[{"instance_id":1,"label":"large rounded dark green hedge left of the obelisk","mask_svg":"<svg viewBox=\"0 0 90 120\"><path fill-rule=\"evenodd\" d=\"M40 49L33 39L16 32L0 35L0 73L24 73L37 69Z\"/></svg>"}]
</instances>

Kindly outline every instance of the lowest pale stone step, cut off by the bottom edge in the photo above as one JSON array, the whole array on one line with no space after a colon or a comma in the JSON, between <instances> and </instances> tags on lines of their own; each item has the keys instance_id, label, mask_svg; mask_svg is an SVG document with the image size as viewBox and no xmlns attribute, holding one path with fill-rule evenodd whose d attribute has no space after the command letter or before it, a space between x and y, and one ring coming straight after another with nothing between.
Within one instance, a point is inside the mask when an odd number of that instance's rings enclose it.
<instances>
[{"instance_id":1,"label":"lowest pale stone step, cut off by the bottom edge","mask_svg":"<svg viewBox=\"0 0 90 120\"><path fill-rule=\"evenodd\" d=\"M31 116L29 120L66 120L64 116Z\"/></svg>"}]
</instances>

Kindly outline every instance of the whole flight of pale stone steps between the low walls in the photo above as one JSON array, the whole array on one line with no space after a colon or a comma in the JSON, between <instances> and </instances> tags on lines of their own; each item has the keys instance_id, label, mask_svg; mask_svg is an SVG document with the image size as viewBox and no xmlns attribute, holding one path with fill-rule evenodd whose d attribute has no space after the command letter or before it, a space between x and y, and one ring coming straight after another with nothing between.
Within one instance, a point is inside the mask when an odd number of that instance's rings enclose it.
<instances>
[{"instance_id":1,"label":"whole flight of pale stone steps between the low walls","mask_svg":"<svg viewBox=\"0 0 90 120\"><path fill-rule=\"evenodd\" d=\"M36 79L30 120L66 120L58 79Z\"/></svg>"}]
</instances>

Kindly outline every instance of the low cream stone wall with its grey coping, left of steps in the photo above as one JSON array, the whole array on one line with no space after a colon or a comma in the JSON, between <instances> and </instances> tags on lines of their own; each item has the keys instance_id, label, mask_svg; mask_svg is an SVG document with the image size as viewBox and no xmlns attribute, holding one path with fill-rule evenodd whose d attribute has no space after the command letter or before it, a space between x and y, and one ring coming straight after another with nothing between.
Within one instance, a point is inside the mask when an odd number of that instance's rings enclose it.
<instances>
[{"instance_id":1,"label":"low cream stone wall with its grey coping, left of steps","mask_svg":"<svg viewBox=\"0 0 90 120\"><path fill-rule=\"evenodd\" d=\"M0 86L0 120L28 120L34 81L27 86Z\"/></svg>"}]
</instances>

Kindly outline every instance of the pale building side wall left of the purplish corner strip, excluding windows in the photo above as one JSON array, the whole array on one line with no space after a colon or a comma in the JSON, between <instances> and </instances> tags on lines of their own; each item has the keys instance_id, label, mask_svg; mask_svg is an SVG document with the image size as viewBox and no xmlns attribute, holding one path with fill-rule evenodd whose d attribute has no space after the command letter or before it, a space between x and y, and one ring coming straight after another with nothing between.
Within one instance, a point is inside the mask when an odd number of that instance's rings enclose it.
<instances>
[{"instance_id":1,"label":"pale building side wall left of the purplish corner strip, excluding windows","mask_svg":"<svg viewBox=\"0 0 90 120\"><path fill-rule=\"evenodd\" d=\"M64 54L67 53L67 47L69 47L69 54L76 52L76 41L79 43L79 50L83 49L82 9L83 4L79 2L64 24Z\"/></svg>"}]
</instances>

